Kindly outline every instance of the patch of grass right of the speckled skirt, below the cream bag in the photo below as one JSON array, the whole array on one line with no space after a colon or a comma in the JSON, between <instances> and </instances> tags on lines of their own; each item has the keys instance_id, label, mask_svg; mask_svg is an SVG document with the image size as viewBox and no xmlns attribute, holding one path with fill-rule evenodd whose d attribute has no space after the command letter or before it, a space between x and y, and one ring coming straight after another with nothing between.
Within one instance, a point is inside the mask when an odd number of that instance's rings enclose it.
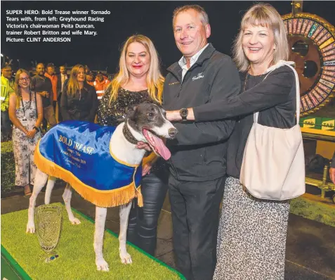
<instances>
[{"instance_id":1,"label":"patch of grass right of the speckled skirt, below the cream bag","mask_svg":"<svg viewBox=\"0 0 335 280\"><path fill-rule=\"evenodd\" d=\"M290 212L335 227L334 205L327 205L321 201L310 201L300 196L291 200Z\"/></svg>"}]
</instances>

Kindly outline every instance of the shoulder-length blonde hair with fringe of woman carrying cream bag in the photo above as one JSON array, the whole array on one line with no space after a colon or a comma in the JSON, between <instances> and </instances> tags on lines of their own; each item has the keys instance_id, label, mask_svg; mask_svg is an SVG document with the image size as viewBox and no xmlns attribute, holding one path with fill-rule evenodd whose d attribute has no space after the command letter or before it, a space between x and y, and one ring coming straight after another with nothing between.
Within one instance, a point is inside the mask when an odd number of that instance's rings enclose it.
<instances>
[{"instance_id":1,"label":"shoulder-length blonde hair with fringe of woman carrying cream bag","mask_svg":"<svg viewBox=\"0 0 335 280\"><path fill-rule=\"evenodd\" d=\"M277 63L280 60L287 61L289 58L287 30L285 30L280 14L270 4L256 4L251 6L247 13L243 15L239 34L237 34L233 46L234 61L241 72L247 71L250 65L242 47L243 32L247 25L261 25L272 29L275 37L275 50L273 51L272 63Z\"/></svg>"}]
</instances>

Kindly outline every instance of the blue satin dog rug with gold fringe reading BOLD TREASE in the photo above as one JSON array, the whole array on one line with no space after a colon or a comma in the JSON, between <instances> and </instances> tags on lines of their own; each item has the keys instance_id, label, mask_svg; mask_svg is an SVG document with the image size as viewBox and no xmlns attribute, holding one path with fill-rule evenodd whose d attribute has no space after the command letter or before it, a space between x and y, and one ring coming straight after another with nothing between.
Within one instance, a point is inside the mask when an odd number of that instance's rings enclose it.
<instances>
[{"instance_id":1,"label":"blue satin dog rug with gold fringe reading BOLD TREASE","mask_svg":"<svg viewBox=\"0 0 335 280\"><path fill-rule=\"evenodd\" d=\"M63 179L99 207L128 203L140 193L142 165L115 158L110 139L115 127L70 120L50 129L37 144L34 162L42 172Z\"/></svg>"}]
</instances>

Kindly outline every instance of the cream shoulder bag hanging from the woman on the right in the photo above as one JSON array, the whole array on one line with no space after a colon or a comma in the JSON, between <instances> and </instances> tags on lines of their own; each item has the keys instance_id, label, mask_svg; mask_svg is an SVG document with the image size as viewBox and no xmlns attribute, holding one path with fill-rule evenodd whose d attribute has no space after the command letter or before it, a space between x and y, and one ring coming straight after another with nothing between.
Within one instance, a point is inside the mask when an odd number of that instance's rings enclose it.
<instances>
[{"instance_id":1,"label":"cream shoulder bag hanging from the woman on the right","mask_svg":"<svg viewBox=\"0 0 335 280\"><path fill-rule=\"evenodd\" d=\"M288 61L280 61L267 72L270 74L282 65L287 65L294 71L297 124L290 129L267 127L258 124L258 112L254 113L254 125L244 148L239 181L256 198L283 201L305 193L305 158L298 125L299 80L296 70L290 64L292 63Z\"/></svg>"}]
</instances>

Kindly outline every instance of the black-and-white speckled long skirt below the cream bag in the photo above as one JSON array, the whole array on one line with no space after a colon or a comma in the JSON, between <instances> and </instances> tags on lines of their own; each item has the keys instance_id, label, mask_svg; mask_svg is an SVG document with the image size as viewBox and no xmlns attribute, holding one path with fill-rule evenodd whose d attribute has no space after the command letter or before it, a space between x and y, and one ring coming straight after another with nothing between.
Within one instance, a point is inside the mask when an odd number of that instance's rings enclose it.
<instances>
[{"instance_id":1,"label":"black-and-white speckled long skirt below the cream bag","mask_svg":"<svg viewBox=\"0 0 335 280\"><path fill-rule=\"evenodd\" d=\"M214 279L284 279L288 217L289 201L254 198L228 177Z\"/></svg>"}]
</instances>

